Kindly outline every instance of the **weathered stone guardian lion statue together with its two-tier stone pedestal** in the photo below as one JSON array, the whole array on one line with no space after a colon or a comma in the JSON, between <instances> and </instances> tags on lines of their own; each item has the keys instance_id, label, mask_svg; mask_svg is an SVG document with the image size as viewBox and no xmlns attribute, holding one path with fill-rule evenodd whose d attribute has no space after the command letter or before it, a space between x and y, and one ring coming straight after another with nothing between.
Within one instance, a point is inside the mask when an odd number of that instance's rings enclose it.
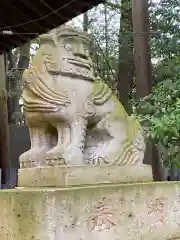
<instances>
[{"instance_id":1,"label":"weathered stone guardian lion statue together with its two-tier stone pedestal","mask_svg":"<svg viewBox=\"0 0 180 240\"><path fill-rule=\"evenodd\" d=\"M180 187L137 183L152 182L142 129L94 78L89 37L63 28L40 41L23 73L31 148L19 188L0 192L0 239L179 237Z\"/></svg>"}]
</instances>

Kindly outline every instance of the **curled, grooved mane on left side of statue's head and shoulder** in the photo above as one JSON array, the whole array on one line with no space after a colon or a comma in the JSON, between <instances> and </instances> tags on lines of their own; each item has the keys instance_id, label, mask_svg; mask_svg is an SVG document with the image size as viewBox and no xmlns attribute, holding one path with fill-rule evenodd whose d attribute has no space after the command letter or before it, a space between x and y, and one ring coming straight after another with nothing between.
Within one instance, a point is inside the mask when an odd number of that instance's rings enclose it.
<instances>
[{"instance_id":1,"label":"curled, grooved mane on left side of statue's head and shoulder","mask_svg":"<svg viewBox=\"0 0 180 240\"><path fill-rule=\"evenodd\" d=\"M57 106L70 104L68 95L62 89L52 89L49 85L53 75L61 75L59 38L78 36L88 41L88 35L78 33L71 28L55 29L40 36L40 48L32 61L32 66L23 73L26 90L33 94L32 99L24 92L24 109L26 111L57 111Z\"/></svg>"}]
</instances>

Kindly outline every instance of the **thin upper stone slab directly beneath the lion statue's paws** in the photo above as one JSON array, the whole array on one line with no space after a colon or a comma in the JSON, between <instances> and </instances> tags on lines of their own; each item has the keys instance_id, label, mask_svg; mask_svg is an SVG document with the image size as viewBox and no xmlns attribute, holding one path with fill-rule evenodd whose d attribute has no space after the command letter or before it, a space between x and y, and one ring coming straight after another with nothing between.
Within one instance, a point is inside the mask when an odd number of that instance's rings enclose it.
<instances>
[{"instance_id":1,"label":"thin upper stone slab directly beneath the lion statue's paws","mask_svg":"<svg viewBox=\"0 0 180 240\"><path fill-rule=\"evenodd\" d=\"M152 181L149 165L57 166L19 169L19 187L65 187L76 185Z\"/></svg>"}]
</instances>

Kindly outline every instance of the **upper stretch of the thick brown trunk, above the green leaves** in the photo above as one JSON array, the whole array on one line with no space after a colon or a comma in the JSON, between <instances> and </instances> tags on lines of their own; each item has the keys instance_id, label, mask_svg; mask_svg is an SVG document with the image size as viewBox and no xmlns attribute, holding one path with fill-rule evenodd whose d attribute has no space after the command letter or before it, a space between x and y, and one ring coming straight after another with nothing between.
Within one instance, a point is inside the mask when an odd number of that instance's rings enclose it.
<instances>
[{"instance_id":1,"label":"upper stretch of the thick brown trunk, above the green leaves","mask_svg":"<svg viewBox=\"0 0 180 240\"><path fill-rule=\"evenodd\" d=\"M142 98L149 95L152 89L148 0L133 1L133 32L136 93L138 98Z\"/></svg>"}]
</instances>

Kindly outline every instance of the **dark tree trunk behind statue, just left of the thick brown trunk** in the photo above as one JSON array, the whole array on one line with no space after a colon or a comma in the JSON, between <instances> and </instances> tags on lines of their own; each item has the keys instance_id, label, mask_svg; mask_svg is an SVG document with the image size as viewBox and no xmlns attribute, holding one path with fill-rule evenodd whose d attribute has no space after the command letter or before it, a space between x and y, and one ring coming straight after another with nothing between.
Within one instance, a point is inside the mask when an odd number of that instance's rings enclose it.
<instances>
[{"instance_id":1,"label":"dark tree trunk behind statue, just left of the thick brown trunk","mask_svg":"<svg viewBox=\"0 0 180 240\"><path fill-rule=\"evenodd\" d=\"M129 1L128 7L127 3ZM121 2L121 19L119 30L119 67L117 91L118 97L126 111L132 113L130 96L133 88L133 38L132 32L132 7L130 0Z\"/></svg>"}]
</instances>

